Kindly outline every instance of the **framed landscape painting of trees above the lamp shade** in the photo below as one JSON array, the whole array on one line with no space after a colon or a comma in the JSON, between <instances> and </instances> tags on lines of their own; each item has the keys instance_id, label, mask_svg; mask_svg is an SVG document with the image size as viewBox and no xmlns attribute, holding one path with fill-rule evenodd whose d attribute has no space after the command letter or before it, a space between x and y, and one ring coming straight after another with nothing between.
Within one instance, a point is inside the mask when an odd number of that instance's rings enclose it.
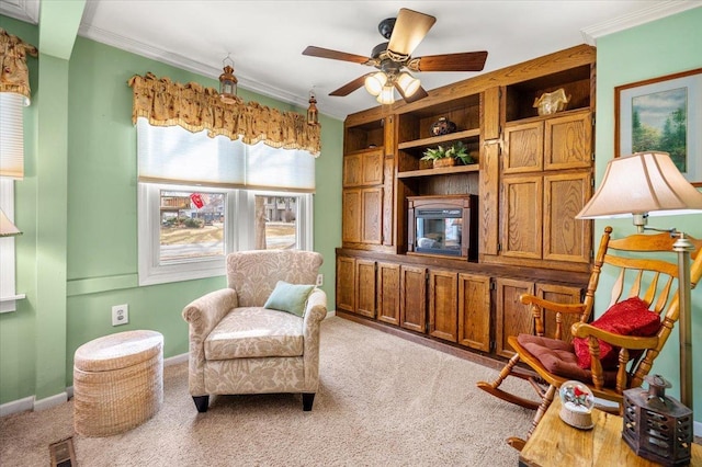
<instances>
[{"instance_id":1,"label":"framed landscape painting of trees above the lamp shade","mask_svg":"<svg viewBox=\"0 0 702 467\"><path fill-rule=\"evenodd\" d=\"M614 157L652 150L702 186L702 68L614 88Z\"/></svg>"}]
</instances>

